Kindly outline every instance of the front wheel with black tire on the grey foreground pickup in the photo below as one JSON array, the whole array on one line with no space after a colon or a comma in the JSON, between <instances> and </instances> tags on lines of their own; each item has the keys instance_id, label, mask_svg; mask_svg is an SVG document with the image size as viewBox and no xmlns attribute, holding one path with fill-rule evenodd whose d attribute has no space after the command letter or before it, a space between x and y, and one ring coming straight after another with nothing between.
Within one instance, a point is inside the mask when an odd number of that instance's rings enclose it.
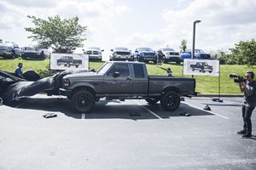
<instances>
[{"instance_id":1,"label":"front wheel with black tire on the grey foreground pickup","mask_svg":"<svg viewBox=\"0 0 256 170\"><path fill-rule=\"evenodd\" d=\"M95 101L95 96L85 90L73 94L71 98L73 108L79 112L90 112L94 108Z\"/></svg>"}]
</instances>

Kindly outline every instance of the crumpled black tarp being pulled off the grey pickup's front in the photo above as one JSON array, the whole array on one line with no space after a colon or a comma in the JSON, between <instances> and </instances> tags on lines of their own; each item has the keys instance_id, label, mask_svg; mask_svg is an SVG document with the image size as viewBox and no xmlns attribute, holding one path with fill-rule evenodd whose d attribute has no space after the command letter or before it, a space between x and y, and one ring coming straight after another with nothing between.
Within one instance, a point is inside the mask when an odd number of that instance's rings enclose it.
<instances>
[{"instance_id":1,"label":"crumpled black tarp being pulled off the grey pickup's front","mask_svg":"<svg viewBox=\"0 0 256 170\"><path fill-rule=\"evenodd\" d=\"M24 73L27 79L22 79L16 77L14 73L0 70L0 97L3 99L4 105L13 105L15 101L41 92L49 95L58 95L62 84L62 77L78 72L84 71L67 70L57 73L52 77L38 79L40 77L37 73L29 71L27 74Z\"/></svg>"}]
</instances>

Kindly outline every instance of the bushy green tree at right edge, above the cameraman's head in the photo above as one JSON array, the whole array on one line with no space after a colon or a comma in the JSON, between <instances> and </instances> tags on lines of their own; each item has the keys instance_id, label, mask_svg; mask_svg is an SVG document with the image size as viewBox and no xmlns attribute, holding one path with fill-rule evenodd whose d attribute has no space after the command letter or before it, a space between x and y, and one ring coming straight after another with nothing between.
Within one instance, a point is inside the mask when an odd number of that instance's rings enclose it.
<instances>
[{"instance_id":1,"label":"bushy green tree at right edge, above the cameraman's head","mask_svg":"<svg viewBox=\"0 0 256 170\"><path fill-rule=\"evenodd\" d=\"M230 51L237 64L251 67L256 65L256 42L254 39L247 42L241 41L235 46L235 48L230 48Z\"/></svg>"}]
</instances>

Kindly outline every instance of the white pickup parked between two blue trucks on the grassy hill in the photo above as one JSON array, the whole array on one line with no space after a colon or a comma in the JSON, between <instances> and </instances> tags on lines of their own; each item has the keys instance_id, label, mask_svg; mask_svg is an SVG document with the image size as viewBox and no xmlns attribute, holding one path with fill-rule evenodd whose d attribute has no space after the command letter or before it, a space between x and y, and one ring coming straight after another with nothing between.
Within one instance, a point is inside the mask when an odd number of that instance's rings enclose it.
<instances>
[{"instance_id":1,"label":"white pickup parked between two blue trucks on the grassy hill","mask_svg":"<svg viewBox=\"0 0 256 170\"><path fill-rule=\"evenodd\" d=\"M181 60L179 58L179 52L173 48L161 48L160 50L163 52L163 54L165 54L163 59L164 63L176 62L177 64L180 64Z\"/></svg>"}]
</instances>

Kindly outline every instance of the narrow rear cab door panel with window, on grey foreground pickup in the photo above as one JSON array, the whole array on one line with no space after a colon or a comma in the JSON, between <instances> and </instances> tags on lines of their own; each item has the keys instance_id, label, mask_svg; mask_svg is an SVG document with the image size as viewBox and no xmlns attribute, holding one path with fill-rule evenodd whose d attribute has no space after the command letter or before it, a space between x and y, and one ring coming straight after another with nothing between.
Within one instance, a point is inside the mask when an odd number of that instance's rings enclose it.
<instances>
[{"instance_id":1,"label":"narrow rear cab door panel with window, on grey foreground pickup","mask_svg":"<svg viewBox=\"0 0 256 170\"><path fill-rule=\"evenodd\" d=\"M132 94L147 94L148 93L148 74L141 64L133 64L132 71Z\"/></svg>"}]
</instances>

